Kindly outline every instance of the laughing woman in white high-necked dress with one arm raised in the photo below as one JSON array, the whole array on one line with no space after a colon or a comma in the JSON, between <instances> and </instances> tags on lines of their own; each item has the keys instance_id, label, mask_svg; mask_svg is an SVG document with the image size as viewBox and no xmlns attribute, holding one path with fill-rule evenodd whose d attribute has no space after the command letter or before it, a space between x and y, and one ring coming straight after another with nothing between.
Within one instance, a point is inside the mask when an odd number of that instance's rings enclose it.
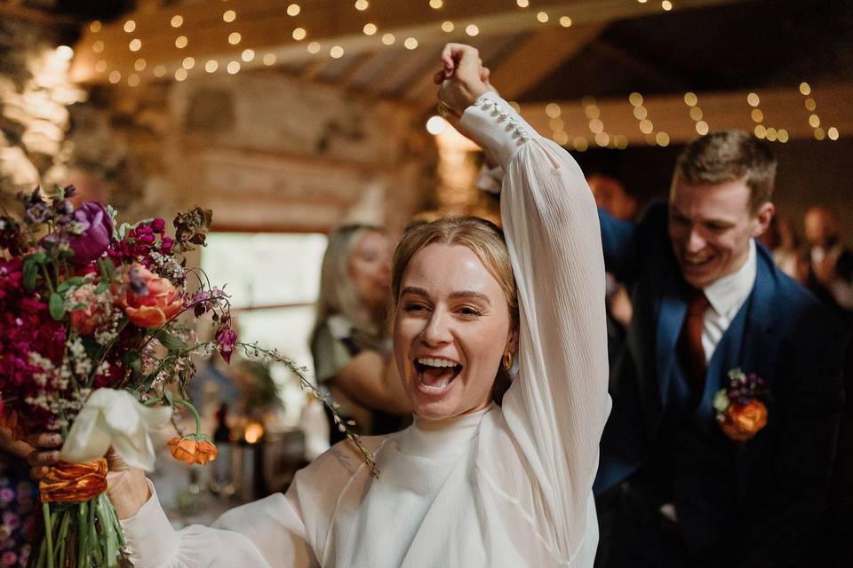
<instances>
[{"instance_id":1,"label":"laughing woman in white high-necked dress with one arm raised","mask_svg":"<svg viewBox=\"0 0 853 568\"><path fill-rule=\"evenodd\" d=\"M393 268L394 352L414 424L342 442L286 494L172 530L140 470L108 495L140 568L592 566L592 485L610 411L598 217L578 164L490 90L477 51L442 52L442 113L505 170L503 233L410 227ZM517 364L514 364L517 361ZM499 366L517 368L502 406Z\"/></svg>"}]
</instances>

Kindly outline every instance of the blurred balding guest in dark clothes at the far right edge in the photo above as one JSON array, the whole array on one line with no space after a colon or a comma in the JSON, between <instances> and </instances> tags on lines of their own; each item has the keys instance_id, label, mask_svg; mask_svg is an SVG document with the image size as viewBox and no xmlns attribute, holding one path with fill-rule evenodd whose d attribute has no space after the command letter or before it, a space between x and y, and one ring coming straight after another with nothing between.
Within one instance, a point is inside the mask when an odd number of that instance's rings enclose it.
<instances>
[{"instance_id":1,"label":"blurred balding guest in dark clothes at the far right edge","mask_svg":"<svg viewBox=\"0 0 853 568\"><path fill-rule=\"evenodd\" d=\"M842 308L853 310L853 250L841 243L838 217L825 207L806 212L809 242L809 280L817 296L832 296Z\"/></svg>"}]
</instances>

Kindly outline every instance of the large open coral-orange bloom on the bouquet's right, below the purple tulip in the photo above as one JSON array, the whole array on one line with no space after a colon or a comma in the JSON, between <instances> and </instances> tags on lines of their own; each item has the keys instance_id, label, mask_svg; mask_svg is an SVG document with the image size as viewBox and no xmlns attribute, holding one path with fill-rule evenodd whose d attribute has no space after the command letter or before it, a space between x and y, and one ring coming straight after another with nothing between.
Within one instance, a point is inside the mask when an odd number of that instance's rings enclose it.
<instances>
[{"instance_id":1,"label":"large open coral-orange bloom on the bouquet's right, below the purple tulip","mask_svg":"<svg viewBox=\"0 0 853 568\"><path fill-rule=\"evenodd\" d=\"M134 325L160 327L184 308L178 288L141 264L126 273L127 284L118 304Z\"/></svg>"}]
</instances>

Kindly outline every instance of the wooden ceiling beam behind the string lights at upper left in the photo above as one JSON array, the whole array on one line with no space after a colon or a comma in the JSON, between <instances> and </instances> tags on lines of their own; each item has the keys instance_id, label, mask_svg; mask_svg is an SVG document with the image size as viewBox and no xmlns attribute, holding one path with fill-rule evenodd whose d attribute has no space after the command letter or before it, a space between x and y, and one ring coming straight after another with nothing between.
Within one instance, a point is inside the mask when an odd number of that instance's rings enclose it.
<instances>
[{"instance_id":1,"label":"wooden ceiling beam behind the string lights at upper left","mask_svg":"<svg viewBox=\"0 0 853 568\"><path fill-rule=\"evenodd\" d=\"M730 4L742 0L679 0L674 10ZM190 74L203 73L207 59L219 61L219 67L231 60L240 60L243 50L251 49L256 57L241 61L243 69L263 67L262 56L275 55L279 64L328 57L332 46L343 48L347 55L378 49L403 49L406 37L415 37L421 46L447 41L471 41L465 28L475 24L480 36L508 35L531 29L560 26L560 18L567 15L580 26L601 21L633 18L660 12L655 3L640 4L626 0L537 0L534 8L519 8L514 3L496 10L494 0L466 0L447 3L433 10L426 2L400 2L399 0L371 0L370 8L358 12L351 2L330 0L303 0L296 16L289 16L281 3L267 0L243 0L240 3L219 4L214 9L208 3L187 3L178 7L166 6L157 10L139 8L114 22L103 24L98 32L84 30L76 44L76 57L72 77L83 83L105 83L112 71L123 76L134 73L136 59L146 59L147 67L137 72L144 81L153 77L156 66L166 67L167 74L180 67L181 62L192 57L196 66ZM235 11L235 19L226 22L223 13ZM548 21L537 20L538 12L546 12ZM180 16L179 28L171 27L174 16ZM132 32L124 31L127 20L133 20ZM451 33L442 31L443 21L454 22ZM373 36L363 34L363 26L374 23L379 31ZM292 38L295 28L306 30L307 36L297 41ZM239 43L228 43L234 32L241 35ZM396 42L392 46L381 43L381 37L392 33ZM187 37L184 48L176 47L179 36ZM138 39L141 47L130 51L132 40ZM307 43L318 42L321 50L307 52ZM97 51L96 51L97 50ZM104 63L97 66L102 60ZM200 64L200 65L199 65Z\"/></svg>"}]
</instances>

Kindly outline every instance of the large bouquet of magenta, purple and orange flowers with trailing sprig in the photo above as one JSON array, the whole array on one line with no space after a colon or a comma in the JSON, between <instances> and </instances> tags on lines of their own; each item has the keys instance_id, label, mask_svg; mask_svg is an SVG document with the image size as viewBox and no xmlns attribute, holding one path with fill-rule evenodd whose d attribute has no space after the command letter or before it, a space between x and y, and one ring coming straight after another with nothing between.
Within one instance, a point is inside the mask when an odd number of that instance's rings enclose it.
<instances>
[{"instance_id":1,"label":"large bouquet of magenta, purple and orange flowers with trailing sprig","mask_svg":"<svg viewBox=\"0 0 853 568\"><path fill-rule=\"evenodd\" d=\"M211 211L180 213L172 238L163 219L117 225L116 212L99 202L75 207L74 193L57 187L47 198L36 188L20 195L20 217L0 217L0 426L17 438L47 430L64 440L60 463L39 483L44 536L30 561L37 568L116 566L124 556L104 493L110 447L128 465L152 469L149 432L187 408L195 431L172 438L171 454L187 463L216 459L187 397L194 355L219 351L228 361L241 348L282 362L319 395L291 359L239 342L227 294L186 267L184 254L203 246ZM205 314L213 339L201 342L194 330Z\"/></svg>"}]
</instances>

